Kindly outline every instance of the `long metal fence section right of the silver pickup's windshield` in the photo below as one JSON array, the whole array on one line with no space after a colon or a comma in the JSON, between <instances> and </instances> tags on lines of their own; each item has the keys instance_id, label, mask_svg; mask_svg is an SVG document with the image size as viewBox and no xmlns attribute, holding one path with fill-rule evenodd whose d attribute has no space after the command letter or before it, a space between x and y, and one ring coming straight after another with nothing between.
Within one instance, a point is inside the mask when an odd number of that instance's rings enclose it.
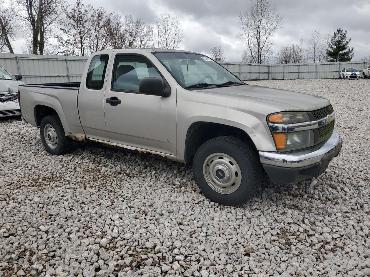
<instances>
[{"instance_id":1,"label":"long metal fence section right of the silver pickup's windshield","mask_svg":"<svg viewBox=\"0 0 370 277\"><path fill-rule=\"evenodd\" d=\"M247 64L220 63L242 80L327 79L339 78L344 67L355 67L362 72L370 62L321 62L316 64Z\"/></svg>"}]
</instances>

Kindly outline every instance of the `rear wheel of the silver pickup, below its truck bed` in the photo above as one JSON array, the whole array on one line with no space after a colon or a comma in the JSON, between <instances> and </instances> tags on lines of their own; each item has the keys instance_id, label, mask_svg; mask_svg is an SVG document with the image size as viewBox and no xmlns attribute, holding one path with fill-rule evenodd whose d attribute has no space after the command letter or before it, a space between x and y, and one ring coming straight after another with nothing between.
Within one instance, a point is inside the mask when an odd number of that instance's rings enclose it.
<instances>
[{"instance_id":1,"label":"rear wheel of the silver pickup, below its truck bed","mask_svg":"<svg viewBox=\"0 0 370 277\"><path fill-rule=\"evenodd\" d=\"M64 129L57 115L45 116L40 124L41 141L50 154L63 155L70 151L71 139L65 136Z\"/></svg>"}]
</instances>

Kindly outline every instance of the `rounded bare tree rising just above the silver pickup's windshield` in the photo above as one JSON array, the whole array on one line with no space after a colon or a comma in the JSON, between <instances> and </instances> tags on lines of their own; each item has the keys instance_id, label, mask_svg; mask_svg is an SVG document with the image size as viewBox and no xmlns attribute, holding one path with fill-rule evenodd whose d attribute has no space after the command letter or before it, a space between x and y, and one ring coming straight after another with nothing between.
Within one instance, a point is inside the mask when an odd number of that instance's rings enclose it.
<instances>
[{"instance_id":1,"label":"rounded bare tree rising just above the silver pickup's windshield","mask_svg":"<svg viewBox=\"0 0 370 277\"><path fill-rule=\"evenodd\" d=\"M178 49L181 47L184 39L184 32L177 17L171 16L169 11L165 10L155 21L156 33L153 41L158 48Z\"/></svg>"}]
</instances>

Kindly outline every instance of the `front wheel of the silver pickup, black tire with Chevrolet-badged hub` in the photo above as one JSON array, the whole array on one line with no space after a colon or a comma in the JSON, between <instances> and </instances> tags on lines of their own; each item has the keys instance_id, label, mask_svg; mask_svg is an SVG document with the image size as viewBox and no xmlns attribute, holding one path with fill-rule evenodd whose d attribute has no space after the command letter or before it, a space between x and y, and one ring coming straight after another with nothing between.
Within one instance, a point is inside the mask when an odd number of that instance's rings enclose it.
<instances>
[{"instance_id":1,"label":"front wheel of the silver pickup, black tire with Chevrolet-badged hub","mask_svg":"<svg viewBox=\"0 0 370 277\"><path fill-rule=\"evenodd\" d=\"M262 182L257 153L234 137L216 137L203 143L195 153L193 172L203 194L224 205L244 204Z\"/></svg>"}]
</instances>

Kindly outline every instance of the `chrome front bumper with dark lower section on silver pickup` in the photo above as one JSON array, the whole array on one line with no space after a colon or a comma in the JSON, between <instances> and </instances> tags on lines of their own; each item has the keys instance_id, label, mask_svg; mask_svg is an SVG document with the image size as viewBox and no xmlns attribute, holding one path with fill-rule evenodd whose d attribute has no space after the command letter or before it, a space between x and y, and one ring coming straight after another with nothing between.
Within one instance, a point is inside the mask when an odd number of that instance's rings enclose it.
<instances>
[{"instance_id":1,"label":"chrome front bumper with dark lower section on silver pickup","mask_svg":"<svg viewBox=\"0 0 370 277\"><path fill-rule=\"evenodd\" d=\"M337 131L318 149L291 153L260 151L260 161L274 183L292 183L320 175L342 148Z\"/></svg>"}]
</instances>

